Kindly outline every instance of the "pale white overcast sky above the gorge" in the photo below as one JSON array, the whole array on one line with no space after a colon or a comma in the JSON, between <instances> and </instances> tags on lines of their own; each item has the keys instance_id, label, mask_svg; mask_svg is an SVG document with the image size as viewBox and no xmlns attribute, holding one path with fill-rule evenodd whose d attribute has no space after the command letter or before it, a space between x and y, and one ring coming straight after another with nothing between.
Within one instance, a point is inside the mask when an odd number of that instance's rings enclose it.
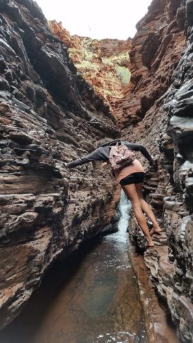
<instances>
[{"instance_id":1,"label":"pale white overcast sky above the gorge","mask_svg":"<svg viewBox=\"0 0 193 343\"><path fill-rule=\"evenodd\" d=\"M126 40L152 0L36 0L48 20L62 21L71 35Z\"/></svg>"}]
</instances>

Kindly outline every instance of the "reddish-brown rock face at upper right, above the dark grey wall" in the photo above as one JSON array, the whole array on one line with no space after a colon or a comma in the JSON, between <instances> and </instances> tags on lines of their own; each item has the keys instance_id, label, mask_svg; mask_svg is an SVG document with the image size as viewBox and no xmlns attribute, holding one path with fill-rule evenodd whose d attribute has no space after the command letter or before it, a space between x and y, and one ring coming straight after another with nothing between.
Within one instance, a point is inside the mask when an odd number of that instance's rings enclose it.
<instances>
[{"instance_id":1,"label":"reddish-brown rock face at upper right, above the dark grey wall","mask_svg":"<svg viewBox=\"0 0 193 343\"><path fill-rule=\"evenodd\" d=\"M177 24L178 6L171 3L154 0L137 25L138 32L129 51L131 83L124 100L117 102L115 109L120 128L142 121L171 83L185 47L185 36Z\"/></svg>"}]
</instances>

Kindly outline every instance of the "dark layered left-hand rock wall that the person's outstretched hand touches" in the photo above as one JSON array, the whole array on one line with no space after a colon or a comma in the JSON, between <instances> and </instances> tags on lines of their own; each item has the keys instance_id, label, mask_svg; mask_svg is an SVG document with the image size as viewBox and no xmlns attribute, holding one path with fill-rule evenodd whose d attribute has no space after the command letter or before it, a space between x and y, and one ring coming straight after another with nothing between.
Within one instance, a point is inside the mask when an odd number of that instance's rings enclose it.
<instances>
[{"instance_id":1,"label":"dark layered left-hand rock wall that the person's outstretched hand touches","mask_svg":"<svg viewBox=\"0 0 193 343\"><path fill-rule=\"evenodd\" d=\"M107 171L99 163L66 170L64 162L119 132L110 108L77 75L38 5L1 0L0 12L3 327L57 255L112 229L119 189L113 197Z\"/></svg>"}]
</instances>

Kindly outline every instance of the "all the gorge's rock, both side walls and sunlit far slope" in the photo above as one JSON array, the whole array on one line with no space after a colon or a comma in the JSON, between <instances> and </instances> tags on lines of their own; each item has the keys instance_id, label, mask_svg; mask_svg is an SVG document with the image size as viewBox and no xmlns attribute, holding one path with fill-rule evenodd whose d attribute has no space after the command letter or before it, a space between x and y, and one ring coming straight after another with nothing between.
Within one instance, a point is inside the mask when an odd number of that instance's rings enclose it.
<instances>
[{"instance_id":1,"label":"all the gorge's rock, both side walls and sunlit far slope","mask_svg":"<svg viewBox=\"0 0 193 343\"><path fill-rule=\"evenodd\" d=\"M48 22L35 1L0 0L1 329L53 261L116 231L120 187L110 171L65 163L122 137L156 160L144 197L163 232L144 252L133 218L129 227L149 343L171 340L142 299L145 278L179 342L193 342L192 25L193 0L153 0L134 38L92 40Z\"/></svg>"}]
</instances>

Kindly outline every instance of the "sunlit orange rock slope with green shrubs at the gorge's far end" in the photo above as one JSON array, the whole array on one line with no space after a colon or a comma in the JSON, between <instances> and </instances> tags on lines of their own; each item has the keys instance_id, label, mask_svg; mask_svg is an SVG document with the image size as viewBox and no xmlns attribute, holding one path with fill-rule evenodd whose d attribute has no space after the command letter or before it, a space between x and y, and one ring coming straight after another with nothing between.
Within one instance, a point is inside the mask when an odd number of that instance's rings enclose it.
<instances>
[{"instance_id":1,"label":"sunlit orange rock slope with green shrubs at the gorge's far end","mask_svg":"<svg viewBox=\"0 0 193 343\"><path fill-rule=\"evenodd\" d=\"M62 23L50 21L51 32L67 46L77 71L105 100L116 117L114 108L123 99L130 80L129 54L131 39L103 39L70 36Z\"/></svg>"}]
</instances>

